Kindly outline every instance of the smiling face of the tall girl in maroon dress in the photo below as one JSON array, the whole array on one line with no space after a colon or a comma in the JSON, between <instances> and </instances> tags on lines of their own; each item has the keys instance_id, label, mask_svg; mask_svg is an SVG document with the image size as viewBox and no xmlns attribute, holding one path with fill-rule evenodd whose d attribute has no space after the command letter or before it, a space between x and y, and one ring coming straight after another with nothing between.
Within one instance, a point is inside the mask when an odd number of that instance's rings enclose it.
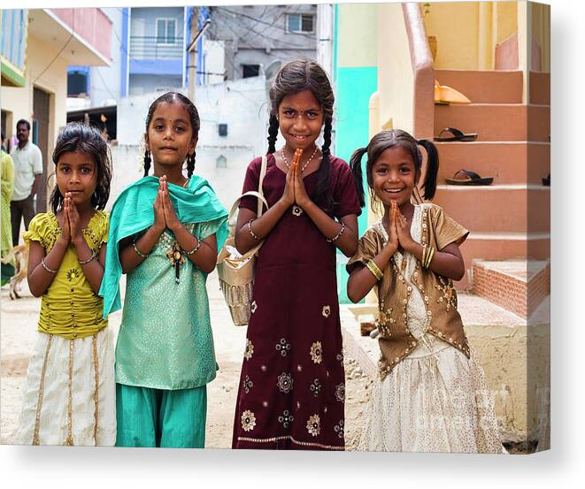
<instances>
[{"instance_id":1,"label":"smiling face of the tall girl in maroon dress","mask_svg":"<svg viewBox=\"0 0 585 489\"><path fill-rule=\"evenodd\" d=\"M308 149L323 126L323 111L311 90L284 96L278 108L281 134L289 149Z\"/></svg>"}]
</instances>

